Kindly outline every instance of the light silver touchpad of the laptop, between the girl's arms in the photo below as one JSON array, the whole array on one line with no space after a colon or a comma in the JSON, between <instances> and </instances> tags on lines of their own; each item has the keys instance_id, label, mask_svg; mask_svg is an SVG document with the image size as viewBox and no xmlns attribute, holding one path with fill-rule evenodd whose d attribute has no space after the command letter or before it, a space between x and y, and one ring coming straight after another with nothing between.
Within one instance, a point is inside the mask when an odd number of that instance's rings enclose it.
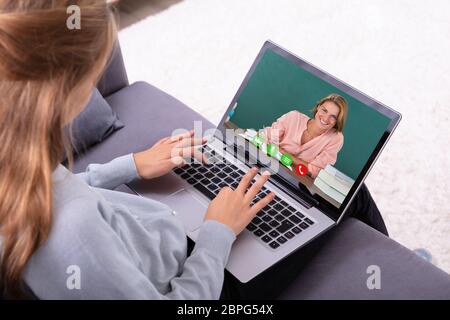
<instances>
[{"instance_id":1,"label":"light silver touchpad of the laptop, between the girl's arms","mask_svg":"<svg viewBox=\"0 0 450 320\"><path fill-rule=\"evenodd\" d=\"M194 231L203 222L207 205L186 190L180 190L162 200L175 211L175 216L183 221L186 231Z\"/></svg>"}]
</instances>

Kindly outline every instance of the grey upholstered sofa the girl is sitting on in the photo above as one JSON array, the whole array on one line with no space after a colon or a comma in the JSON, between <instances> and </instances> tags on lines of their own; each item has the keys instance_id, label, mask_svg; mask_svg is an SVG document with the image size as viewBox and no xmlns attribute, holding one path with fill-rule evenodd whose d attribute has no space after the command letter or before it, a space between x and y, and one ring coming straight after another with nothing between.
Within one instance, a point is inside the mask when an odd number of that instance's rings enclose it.
<instances>
[{"instance_id":1,"label":"grey upholstered sofa the girl is sitting on","mask_svg":"<svg viewBox=\"0 0 450 320\"><path fill-rule=\"evenodd\" d=\"M97 86L124 128L75 157L73 171L152 146L176 128L213 125L146 82L128 83L118 47ZM118 188L134 193L127 186ZM389 227L389 226L388 226ZM427 231L425 231L427 232ZM373 285L373 266L378 285ZM279 299L450 299L450 276L359 220L330 231L325 245Z\"/></svg>"}]
</instances>

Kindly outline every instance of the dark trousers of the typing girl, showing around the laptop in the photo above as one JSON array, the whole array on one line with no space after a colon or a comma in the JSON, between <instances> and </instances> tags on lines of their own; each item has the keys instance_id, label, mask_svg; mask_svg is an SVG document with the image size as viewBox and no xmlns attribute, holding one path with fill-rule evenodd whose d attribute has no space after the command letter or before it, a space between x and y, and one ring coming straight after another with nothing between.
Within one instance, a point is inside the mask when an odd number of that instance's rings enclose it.
<instances>
[{"instance_id":1,"label":"dark trousers of the typing girl, showing around the laptop","mask_svg":"<svg viewBox=\"0 0 450 320\"><path fill-rule=\"evenodd\" d=\"M366 185L361 186L347 210L346 217L356 218L388 236L380 211ZM324 234L247 283L240 282L225 270L220 298L224 300L275 299L297 278L326 241L327 234Z\"/></svg>"}]
</instances>

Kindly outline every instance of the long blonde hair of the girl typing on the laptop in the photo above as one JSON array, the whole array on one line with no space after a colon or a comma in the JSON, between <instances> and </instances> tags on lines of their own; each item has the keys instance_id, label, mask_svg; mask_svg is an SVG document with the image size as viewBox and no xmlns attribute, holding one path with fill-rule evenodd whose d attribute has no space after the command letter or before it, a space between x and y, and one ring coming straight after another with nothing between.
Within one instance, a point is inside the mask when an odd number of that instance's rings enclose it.
<instances>
[{"instance_id":1,"label":"long blonde hair of the girl typing on the laptop","mask_svg":"<svg viewBox=\"0 0 450 320\"><path fill-rule=\"evenodd\" d=\"M81 12L70 30L69 5ZM116 37L99 0L0 0L0 289L24 297L23 270L52 224L52 172Z\"/></svg>"}]
</instances>

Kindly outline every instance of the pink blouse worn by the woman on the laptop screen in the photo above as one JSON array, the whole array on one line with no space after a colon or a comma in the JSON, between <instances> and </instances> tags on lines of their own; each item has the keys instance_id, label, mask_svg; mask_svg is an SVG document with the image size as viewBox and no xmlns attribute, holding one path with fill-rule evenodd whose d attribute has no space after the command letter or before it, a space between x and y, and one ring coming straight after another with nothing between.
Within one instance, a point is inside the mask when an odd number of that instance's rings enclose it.
<instances>
[{"instance_id":1,"label":"pink blouse worn by the woman on the laptop screen","mask_svg":"<svg viewBox=\"0 0 450 320\"><path fill-rule=\"evenodd\" d=\"M303 131L309 119L299 111L288 112L272 123L271 127L265 128L264 135L267 143L277 144L291 155L308 162L308 171L312 177L316 177L327 164L336 163L337 154L344 144L344 135L329 129L302 145Z\"/></svg>"}]
</instances>

